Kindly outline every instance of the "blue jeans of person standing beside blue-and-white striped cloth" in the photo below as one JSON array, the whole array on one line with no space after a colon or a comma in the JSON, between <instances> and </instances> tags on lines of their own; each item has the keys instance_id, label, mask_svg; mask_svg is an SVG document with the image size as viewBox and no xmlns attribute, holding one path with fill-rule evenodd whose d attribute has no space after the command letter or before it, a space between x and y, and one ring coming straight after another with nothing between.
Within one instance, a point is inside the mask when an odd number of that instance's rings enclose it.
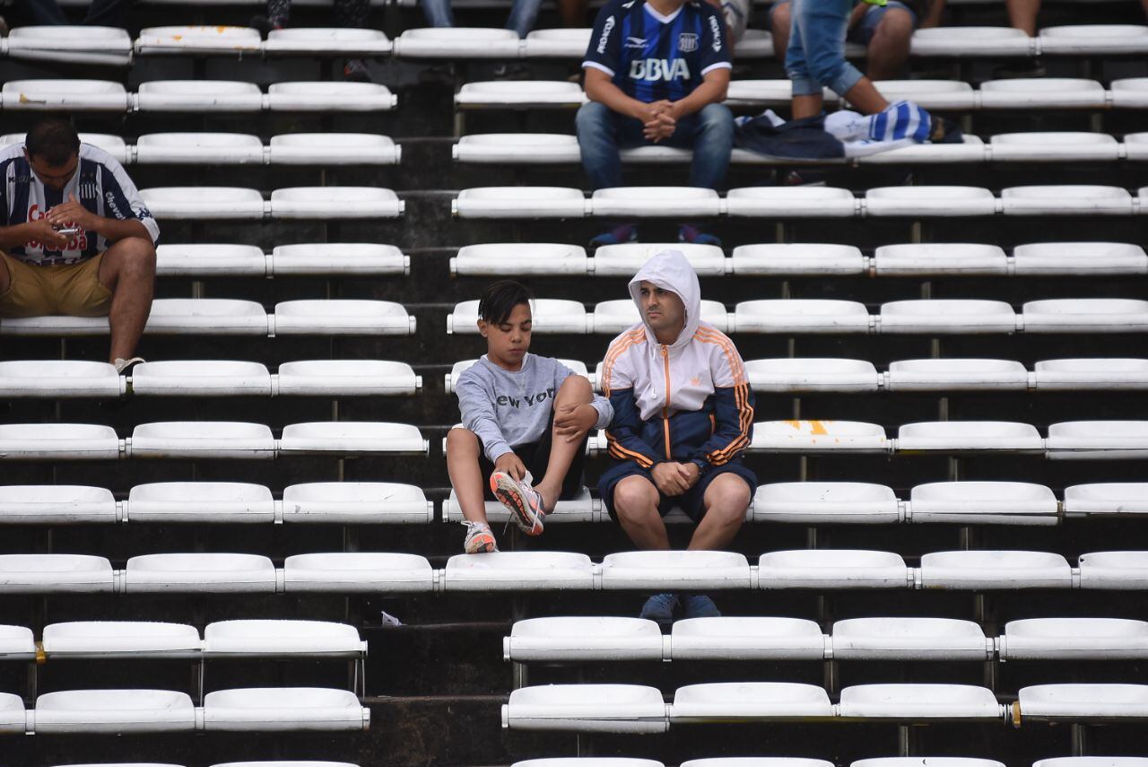
<instances>
[{"instance_id":1,"label":"blue jeans of person standing beside blue-and-white striped cloth","mask_svg":"<svg viewBox=\"0 0 1148 767\"><path fill-rule=\"evenodd\" d=\"M844 95L861 79L856 67L845 61L852 0L793 0L790 47L785 72L793 95L820 94L822 86Z\"/></svg>"}]
</instances>

